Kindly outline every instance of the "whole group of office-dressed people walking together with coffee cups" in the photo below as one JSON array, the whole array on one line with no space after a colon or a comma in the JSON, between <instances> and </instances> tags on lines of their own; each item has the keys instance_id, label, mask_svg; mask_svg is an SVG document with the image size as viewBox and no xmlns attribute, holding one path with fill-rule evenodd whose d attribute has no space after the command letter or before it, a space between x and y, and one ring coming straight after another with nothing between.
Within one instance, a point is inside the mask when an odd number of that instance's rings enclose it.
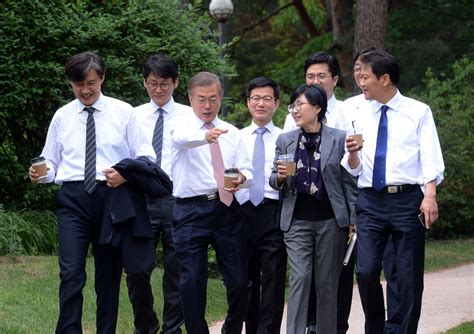
<instances>
[{"instance_id":1,"label":"whole group of office-dressed people walking together with coffee cups","mask_svg":"<svg viewBox=\"0 0 474 334\"><path fill-rule=\"evenodd\" d=\"M416 333L424 230L438 218L444 163L430 108L400 94L397 60L361 50L362 94L336 100L337 60L306 59L306 83L290 97L284 129L273 124L278 84L247 87L252 123L218 117L224 87L213 73L188 82L190 107L173 99L177 63L150 56L150 102L105 96L102 58L65 65L75 100L51 121L42 152L58 194L59 319L56 333L82 333L85 262L92 245L97 333L115 333L125 272L135 333L208 333L208 247L227 291L222 333L280 333L290 267L286 333L345 333L354 267L366 333ZM363 135L360 145L350 131ZM350 131L349 131L350 130ZM290 160L290 164L286 160ZM224 173L235 175L224 185ZM348 265L348 238L357 244ZM162 324L151 275L163 248ZM380 274L387 280L387 314Z\"/></svg>"}]
</instances>

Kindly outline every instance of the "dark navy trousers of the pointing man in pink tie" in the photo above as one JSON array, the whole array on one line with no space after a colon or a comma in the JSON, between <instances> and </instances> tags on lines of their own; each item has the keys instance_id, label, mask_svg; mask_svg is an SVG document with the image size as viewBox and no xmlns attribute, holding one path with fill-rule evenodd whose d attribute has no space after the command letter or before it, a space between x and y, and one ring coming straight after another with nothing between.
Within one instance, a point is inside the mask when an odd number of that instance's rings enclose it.
<instances>
[{"instance_id":1,"label":"dark navy trousers of the pointing man in pink tie","mask_svg":"<svg viewBox=\"0 0 474 334\"><path fill-rule=\"evenodd\" d=\"M174 206L173 240L181 262L181 301L188 333L209 333L205 320L208 263L207 250L216 251L217 264L227 289L227 334L240 334L249 287L243 253L242 208L236 200L230 207L218 199L180 202Z\"/></svg>"}]
</instances>

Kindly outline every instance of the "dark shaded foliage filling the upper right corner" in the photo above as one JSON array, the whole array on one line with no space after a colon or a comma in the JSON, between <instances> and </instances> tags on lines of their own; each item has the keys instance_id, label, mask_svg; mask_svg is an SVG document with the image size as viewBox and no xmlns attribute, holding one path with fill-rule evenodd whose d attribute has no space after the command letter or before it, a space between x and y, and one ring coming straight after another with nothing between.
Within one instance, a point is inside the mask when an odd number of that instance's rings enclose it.
<instances>
[{"instance_id":1,"label":"dark shaded foliage filling the upper right corner","mask_svg":"<svg viewBox=\"0 0 474 334\"><path fill-rule=\"evenodd\" d=\"M428 67L440 73L463 55L474 56L471 0L410 0L393 7L386 47L400 61L402 90L422 88Z\"/></svg>"}]
</instances>

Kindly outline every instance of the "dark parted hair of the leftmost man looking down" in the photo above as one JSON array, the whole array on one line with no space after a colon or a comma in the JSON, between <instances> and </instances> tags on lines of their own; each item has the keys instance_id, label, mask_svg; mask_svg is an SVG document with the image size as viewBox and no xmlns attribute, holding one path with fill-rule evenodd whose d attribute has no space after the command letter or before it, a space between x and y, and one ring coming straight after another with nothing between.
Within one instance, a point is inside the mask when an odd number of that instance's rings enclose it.
<instances>
[{"instance_id":1,"label":"dark parted hair of the leftmost man looking down","mask_svg":"<svg viewBox=\"0 0 474 334\"><path fill-rule=\"evenodd\" d=\"M93 52L78 53L66 62L64 66L66 77L71 82L82 82L87 72L95 70L101 79L105 76L105 63L101 56Z\"/></svg>"}]
</instances>

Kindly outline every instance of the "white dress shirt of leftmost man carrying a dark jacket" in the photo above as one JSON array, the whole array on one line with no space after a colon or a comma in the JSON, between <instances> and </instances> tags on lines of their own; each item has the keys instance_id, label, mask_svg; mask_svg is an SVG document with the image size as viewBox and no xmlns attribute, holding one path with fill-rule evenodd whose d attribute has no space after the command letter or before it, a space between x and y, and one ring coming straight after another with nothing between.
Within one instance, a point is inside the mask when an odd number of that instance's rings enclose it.
<instances>
[{"instance_id":1,"label":"white dress shirt of leftmost man carrying a dark jacket","mask_svg":"<svg viewBox=\"0 0 474 334\"><path fill-rule=\"evenodd\" d=\"M87 111L74 100L56 111L49 125L42 156L50 168L45 182L62 184L84 180ZM105 180L102 170L125 158L154 157L151 145L144 145L133 107L100 95L92 105L96 132L96 179Z\"/></svg>"}]
</instances>

